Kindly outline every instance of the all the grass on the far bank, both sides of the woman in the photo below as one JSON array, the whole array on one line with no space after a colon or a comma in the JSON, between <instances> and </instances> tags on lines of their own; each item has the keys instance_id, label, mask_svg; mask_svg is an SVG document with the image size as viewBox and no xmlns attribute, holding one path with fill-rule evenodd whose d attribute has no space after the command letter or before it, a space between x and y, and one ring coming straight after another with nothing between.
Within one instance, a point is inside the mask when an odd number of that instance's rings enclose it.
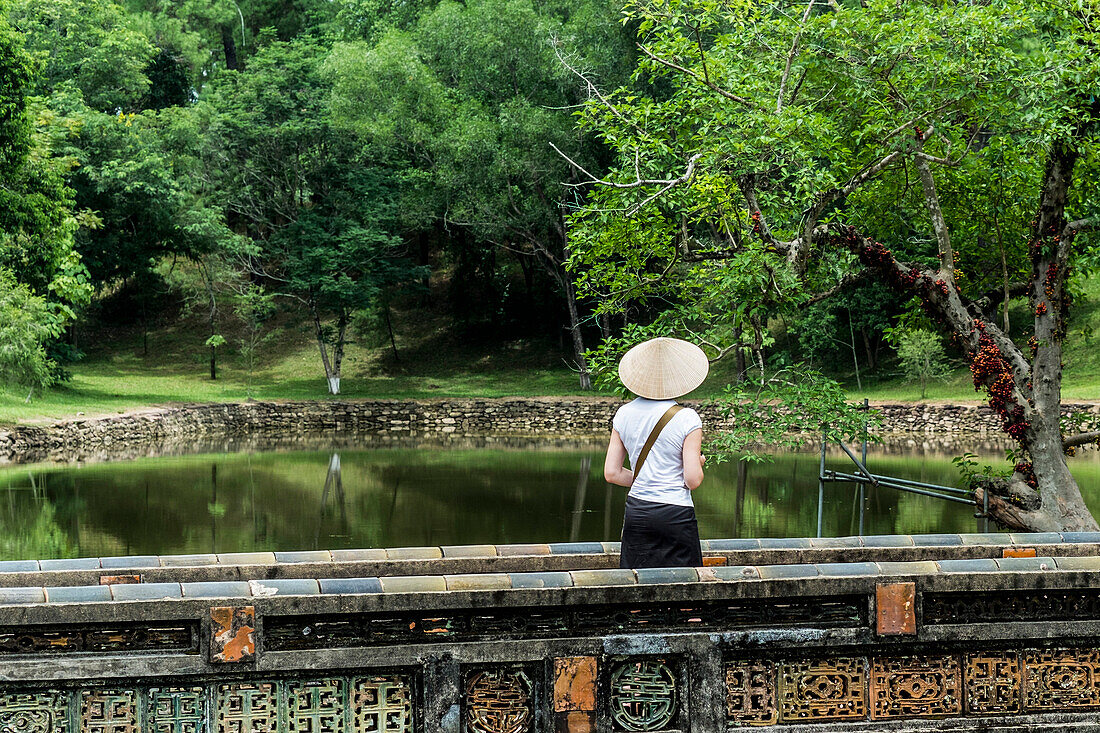
<instances>
[{"instance_id":1,"label":"all the grass on the far bank, both sides of the woman","mask_svg":"<svg viewBox=\"0 0 1100 733\"><path fill-rule=\"evenodd\" d=\"M1100 278L1086 281L1066 339L1067 401L1100 400ZM1021 310L1013 322L1024 326ZM576 375L560 357L557 343L522 341L501 344L454 337L441 319L416 311L395 320L398 359L388 342L367 347L352 343L344 359L342 394L337 398L433 398L563 396L581 394ZM112 335L109 347L95 346L72 368L73 380L37 395L30 404L25 393L0 390L0 425L47 422L56 418L102 416L145 407L196 402L240 402L249 397L248 373L231 347L223 347L219 379L209 379L201 324L173 321L154 329L147 350L138 332ZM105 339L108 340L108 339ZM331 400L320 357L309 328L282 322L252 381L255 400ZM728 381L725 364L692 397L721 392ZM844 376L853 400L916 402L919 384L901 378L865 380ZM592 393L587 393L590 396ZM964 365L944 381L928 385L928 402L983 402L974 391Z\"/></svg>"}]
</instances>

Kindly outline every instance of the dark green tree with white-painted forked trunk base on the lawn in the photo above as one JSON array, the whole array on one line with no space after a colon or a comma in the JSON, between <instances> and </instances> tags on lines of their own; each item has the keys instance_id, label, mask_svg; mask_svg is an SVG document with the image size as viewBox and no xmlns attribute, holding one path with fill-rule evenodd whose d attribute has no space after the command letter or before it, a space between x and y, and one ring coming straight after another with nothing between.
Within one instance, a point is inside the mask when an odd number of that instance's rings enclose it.
<instances>
[{"instance_id":1,"label":"dark green tree with white-painted forked trunk base on the lawn","mask_svg":"<svg viewBox=\"0 0 1100 733\"><path fill-rule=\"evenodd\" d=\"M320 72L328 47L261 41L248 72L223 74L196 106L205 185L250 241L250 276L305 305L329 392L339 394L353 314L419 271L393 234L387 172L331 123Z\"/></svg>"}]
</instances>

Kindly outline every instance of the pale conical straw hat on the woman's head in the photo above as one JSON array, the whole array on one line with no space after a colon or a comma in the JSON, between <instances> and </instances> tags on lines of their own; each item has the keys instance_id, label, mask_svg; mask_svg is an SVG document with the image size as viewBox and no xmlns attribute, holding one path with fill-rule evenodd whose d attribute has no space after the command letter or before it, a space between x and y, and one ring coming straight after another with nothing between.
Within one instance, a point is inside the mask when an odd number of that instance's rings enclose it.
<instances>
[{"instance_id":1,"label":"pale conical straw hat on the woman's head","mask_svg":"<svg viewBox=\"0 0 1100 733\"><path fill-rule=\"evenodd\" d=\"M711 362L697 346L662 337L627 351L619 361L619 379L639 397L672 400L702 384L710 369Z\"/></svg>"}]
</instances>

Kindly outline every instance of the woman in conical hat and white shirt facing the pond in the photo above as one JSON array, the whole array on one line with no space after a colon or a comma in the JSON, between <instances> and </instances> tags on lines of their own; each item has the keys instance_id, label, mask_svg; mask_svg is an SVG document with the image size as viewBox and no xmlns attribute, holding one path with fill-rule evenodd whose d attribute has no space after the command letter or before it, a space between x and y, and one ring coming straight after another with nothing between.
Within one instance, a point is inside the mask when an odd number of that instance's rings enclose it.
<instances>
[{"instance_id":1,"label":"woman in conical hat and white shirt facing the pond","mask_svg":"<svg viewBox=\"0 0 1100 733\"><path fill-rule=\"evenodd\" d=\"M619 362L619 379L638 395L615 413L604 461L604 479L630 488L619 567L703 565L692 503L706 460L703 423L675 397L702 384L708 368L702 349L668 338L639 343ZM628 457L634 470L623 467Z\"/></svg>"}]
</instances>

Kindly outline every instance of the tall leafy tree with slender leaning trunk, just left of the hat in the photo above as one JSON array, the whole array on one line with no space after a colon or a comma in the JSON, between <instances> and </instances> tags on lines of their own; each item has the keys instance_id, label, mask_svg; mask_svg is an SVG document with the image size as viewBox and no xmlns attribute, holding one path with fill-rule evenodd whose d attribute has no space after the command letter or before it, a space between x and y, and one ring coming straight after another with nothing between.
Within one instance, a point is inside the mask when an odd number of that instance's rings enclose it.
<instances>
[{"instance_id":1,"label":"tall leafy tree with slender leaning trunk, just left of the hat","mask_svg":"<svg viewBox=\"0 0 1100 733\"><path fill-rule=\"evenodd\" d=\"M600 169L601 150L575 129L568 110L583 101L586 85L558 53L568 50L570 65L597 68L604 78L624 78L614 63L596 61L630 57L614 20L600 2L444 0L408 32L339 45L329 62L337 121L388 149L404 168L405 196L419 205L410 207L416 223L461 228L466 237L450 244L460 262L509 253L554 283L583 390L592 387L584 305L564 266L565 216L576 196L562 183L579 177L551 145L592 169Z\"/></svg>"}]
</instances>

